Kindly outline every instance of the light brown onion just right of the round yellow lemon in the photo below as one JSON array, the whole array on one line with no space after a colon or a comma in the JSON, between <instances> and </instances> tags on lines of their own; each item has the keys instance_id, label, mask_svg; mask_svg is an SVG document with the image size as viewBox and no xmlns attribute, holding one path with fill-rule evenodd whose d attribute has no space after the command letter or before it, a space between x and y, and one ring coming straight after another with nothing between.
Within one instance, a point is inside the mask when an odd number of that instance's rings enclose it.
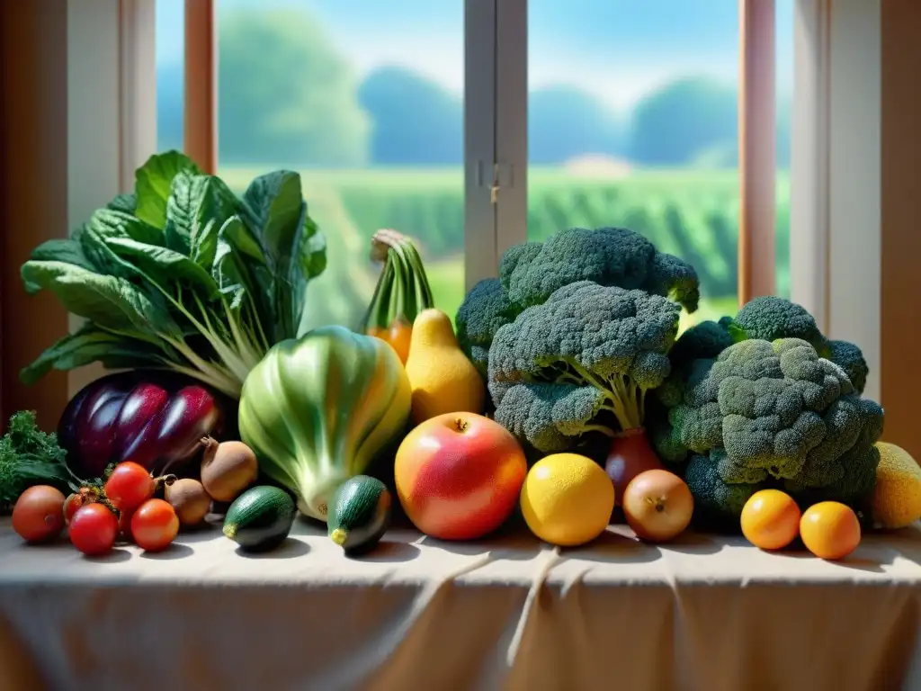
<instances>
[{"instance_id":1,"label":"light brown onion just right of the round yellow lemon","mask_svg":"<svg viewBox=\"0 0 921 691\"><path fill-rule=\"evenodd\" d=\"M624 518L640 540L663 543L683 533L694 515L694 496L682 478L647 470L624 489Z\"/></svg>"}]
</instances>

